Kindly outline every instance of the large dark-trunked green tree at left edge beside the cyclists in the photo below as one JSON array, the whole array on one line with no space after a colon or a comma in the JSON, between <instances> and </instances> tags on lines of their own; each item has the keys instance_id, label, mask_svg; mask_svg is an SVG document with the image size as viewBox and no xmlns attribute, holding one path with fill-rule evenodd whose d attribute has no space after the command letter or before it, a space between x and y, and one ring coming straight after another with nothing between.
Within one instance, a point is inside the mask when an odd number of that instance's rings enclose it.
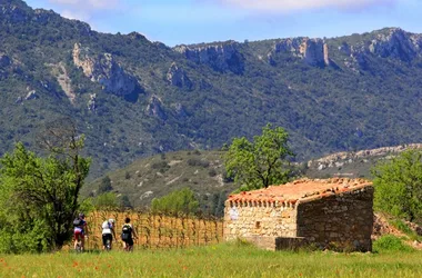
<instances>
[{"instance_id":1,"label":"large dark-trunked green tree at left edge beside the cyclists","mask_svg":"<svg viewBox=\"0 0 422 278\"><path fill-rule=\"evenodd\" d=\"M61 248L71 238L79 191L88 176L90 159L80 155L83 136L67 128L50 126L44 131L43 143L49 151L46 158L17 143L14 151L0 160L0 208L4 212L4 218L0 216L3 222L0 234L11 236L10 251ZM42 238L34 237L19 247L22 238L30 238L32 229Z\"/></svg>"}]
</instances>

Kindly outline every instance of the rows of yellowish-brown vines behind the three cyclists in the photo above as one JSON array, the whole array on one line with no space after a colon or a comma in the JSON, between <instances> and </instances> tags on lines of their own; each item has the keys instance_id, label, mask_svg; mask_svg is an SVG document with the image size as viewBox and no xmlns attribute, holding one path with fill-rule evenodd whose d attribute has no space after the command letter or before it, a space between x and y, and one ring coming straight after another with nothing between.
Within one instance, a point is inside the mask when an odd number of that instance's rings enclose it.
<instances>
[{"instance_id":1,"label":"rows of yellowish-brown vines behind the three cyclists","mask_svg":"<svg viewBox=\"0 0 422 278\"><path fill-rule=\"evenodd\" d=\"M101 224L107 219L115 220L115 234L120 240L124 218L129 217L138 234L135 248L184 248L220 242L223 236L222 219L211 216L164 216L135 211L93 211L87 216L89 237L86 248L101 249Z\"/></svg>"}]
</instances>

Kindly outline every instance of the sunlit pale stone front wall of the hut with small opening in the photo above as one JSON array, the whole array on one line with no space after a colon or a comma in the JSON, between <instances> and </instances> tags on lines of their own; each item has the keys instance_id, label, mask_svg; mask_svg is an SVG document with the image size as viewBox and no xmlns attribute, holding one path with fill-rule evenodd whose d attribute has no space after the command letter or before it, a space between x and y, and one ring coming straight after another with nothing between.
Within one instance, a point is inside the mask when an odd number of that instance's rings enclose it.
<instances>
[{"instance_id":1,"label":"sunlit pale stone front wall of the hut with small opening","mask_svg":"<svg viewBox=\"0 0 422 278\"><path fill-rule=\"evenodd\" d=\"M225 201L224 238L295 237L297 209L293 203Z\"/></svg>"}]
</instances>

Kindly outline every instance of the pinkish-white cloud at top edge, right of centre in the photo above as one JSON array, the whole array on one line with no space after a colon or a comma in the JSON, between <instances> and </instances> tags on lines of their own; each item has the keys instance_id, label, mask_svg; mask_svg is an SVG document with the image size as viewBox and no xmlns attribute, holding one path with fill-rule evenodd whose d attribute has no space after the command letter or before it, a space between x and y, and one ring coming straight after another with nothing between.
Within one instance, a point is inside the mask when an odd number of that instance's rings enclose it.
<instances>
[{"instance_id":1,"label":"pinkish-white cloud at top edge, right of centre","mask_svg":"<svg viewBox=\"0 0 422 278\"><path fill-rule=\"evenodd\" d=\"M291 12L323 8L355 10L372 6L390 6L398 1L400 0L220 0L223 4L269 12Z\"/></svg>"}]
</instances>

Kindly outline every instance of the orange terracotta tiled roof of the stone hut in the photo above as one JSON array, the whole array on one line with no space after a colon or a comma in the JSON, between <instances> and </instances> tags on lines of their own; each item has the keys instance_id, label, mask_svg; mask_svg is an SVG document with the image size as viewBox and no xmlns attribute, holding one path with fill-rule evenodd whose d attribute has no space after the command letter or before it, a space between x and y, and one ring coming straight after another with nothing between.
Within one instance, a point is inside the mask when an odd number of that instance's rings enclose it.
<instances>
[{"instance_id":1,"label":"orange terracotta tiled roof of the stone hut","mask_svg":"<svg viewBox=\"0 0 422 278\"><path fill-rule=\"evenodd\" d=\"M372 183L364 179L299 179L285 185L230 195L228 201L233 202L270 202L290 203L323 198L346 191L353 191Z\"/></svg>"}]
</instances>

